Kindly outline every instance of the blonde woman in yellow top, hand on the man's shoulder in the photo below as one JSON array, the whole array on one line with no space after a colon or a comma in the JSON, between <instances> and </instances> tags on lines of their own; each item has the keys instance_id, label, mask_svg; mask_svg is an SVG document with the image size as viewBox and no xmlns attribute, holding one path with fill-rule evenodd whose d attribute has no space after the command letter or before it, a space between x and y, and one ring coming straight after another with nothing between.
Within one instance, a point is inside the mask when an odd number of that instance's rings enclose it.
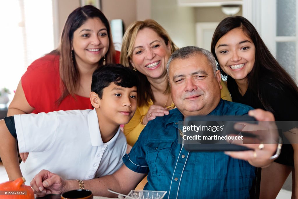
<instances>
[{"instance_id":1,"label":"blonde woman in yellow top, hand on the man's shoulder","mask_svg":"<svg viewBox=\"0 0 298 199\"><path fill-rule=\"evenodd\" d=\"M148 121L169 114L176 108L170 95L166 64L178 47L164 28L152 19L135 21L127 28L120 54L120 63L139 75L138 107L134 117L124 126L124 134L133 146ZM231 101L222 83L222 98Z\"/></svg>"}]
</instances>

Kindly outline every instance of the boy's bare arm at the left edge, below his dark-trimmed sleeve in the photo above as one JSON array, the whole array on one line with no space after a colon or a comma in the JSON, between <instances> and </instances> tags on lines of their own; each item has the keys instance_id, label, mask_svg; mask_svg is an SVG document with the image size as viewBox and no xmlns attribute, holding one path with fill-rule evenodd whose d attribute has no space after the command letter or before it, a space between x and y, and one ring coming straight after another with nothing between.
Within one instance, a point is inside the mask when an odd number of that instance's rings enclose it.
<instances>
[{"instance_id":1,"label":"boy's bare arm at the left edge, below his dark-trimmed sleeve","mask_svg":"<svg viewBox=\"0 0 298 199\"><path fill-rule=\"evenodd\" d=\"M22 177L16 139L10 134L4 120L0 121L0 156L9 180Z\"/></svg>"}]
</instances>

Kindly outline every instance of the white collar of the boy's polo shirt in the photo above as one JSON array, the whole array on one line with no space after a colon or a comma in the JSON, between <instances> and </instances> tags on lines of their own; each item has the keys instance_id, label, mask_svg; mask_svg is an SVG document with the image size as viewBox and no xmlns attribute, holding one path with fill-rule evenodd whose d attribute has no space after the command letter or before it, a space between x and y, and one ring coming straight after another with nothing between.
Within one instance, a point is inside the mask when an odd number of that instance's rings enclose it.
<instances>
[{"instance_id":1,"label":"white collar of the boy's polo shirt","mask_svg":"<svg viewBox=\"0 0 298 199\"><path fill-rule=\"evenodd\" d=\"M99 130L98 117L95 109L91 110L88 113L88 126L89 126L89 134L90 134L90 140L91 140L92 146L107 145L109 150L111 150L114 147L117 141L117 138L120 134L120 127L118 128L117 133L110 141L103 143L103 139L101 138L101 134Z\"/></svg>"}]
</instances>

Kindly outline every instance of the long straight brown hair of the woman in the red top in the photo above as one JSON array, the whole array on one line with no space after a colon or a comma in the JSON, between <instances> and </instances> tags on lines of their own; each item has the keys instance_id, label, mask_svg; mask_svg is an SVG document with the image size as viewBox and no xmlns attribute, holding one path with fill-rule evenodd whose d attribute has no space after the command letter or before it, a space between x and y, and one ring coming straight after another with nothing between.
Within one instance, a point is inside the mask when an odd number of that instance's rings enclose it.
<instances>
[{"instance_id":1,"label":"long straight brown hair of the woman in the red top","mask_svg":"<svg viewBox=\"0 0 298 199\"><path fill-rule=\"evenodd\" d=\"M81 27L88 19L99 18L105 27L107 28L109 38L109 49L105 54L106 63L115 63L115 50L111 34L111 28L108 19L105 17L103 12L94 6L86 5L84 7L78 7L72 13L69 14L61 34L60 45L57 50L51 53L60 54L60 90L61 96L57 100L60 104L61 101L67 96L72 95L75 98L75 92L79 84L80 74L77 69L76 61L74 56L72 57L72 38L74 32ZM103 59L101 58L98 62L98 67L103 65Z\"/></svg>"}]
</instances>

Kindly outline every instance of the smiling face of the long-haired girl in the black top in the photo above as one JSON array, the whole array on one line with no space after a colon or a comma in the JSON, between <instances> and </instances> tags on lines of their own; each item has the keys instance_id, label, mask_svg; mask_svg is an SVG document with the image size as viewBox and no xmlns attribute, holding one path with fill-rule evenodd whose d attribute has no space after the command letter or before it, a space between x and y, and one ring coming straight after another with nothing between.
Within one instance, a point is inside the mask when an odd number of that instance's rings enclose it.
<instances>
[{"instance_id":1,"label":"smiling face of the long-haired girl in the black top","mask_svg":"<svg viewBox=\"0 0 298 199\"><path fill-rule=\"evenodd\" d=\"M215 45L215 54L221 69L236 82L246 80L255 61L255 46L241 28L234 28Z\"/></svg>"}]
</instances>

